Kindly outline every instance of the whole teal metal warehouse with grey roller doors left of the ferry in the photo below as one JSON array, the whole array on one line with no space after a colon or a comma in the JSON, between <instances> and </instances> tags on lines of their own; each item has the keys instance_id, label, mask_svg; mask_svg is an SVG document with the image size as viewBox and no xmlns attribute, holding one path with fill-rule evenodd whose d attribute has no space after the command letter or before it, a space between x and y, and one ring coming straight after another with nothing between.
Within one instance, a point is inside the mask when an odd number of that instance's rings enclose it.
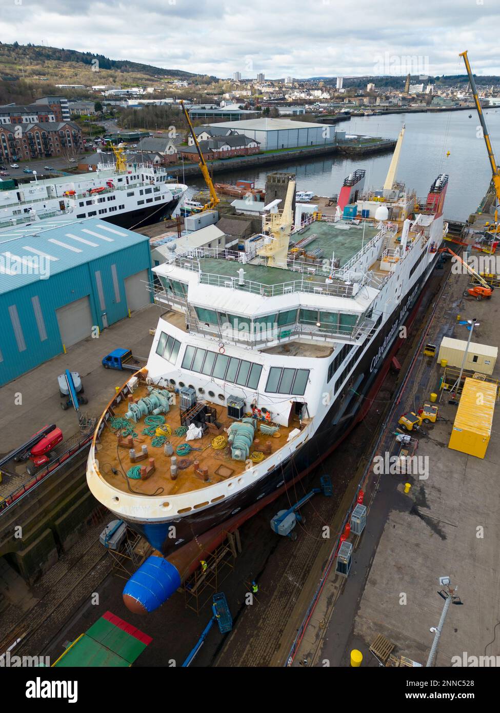
<instances>
[{"instance_id":1,"label":"whole teal metal warehouse with grey roller doors left of the ferry","mask_svg":"<svg viewBox=\"0 0 500 713\"><path fill-rule=\"evenodd\" d=\"M0 245L0 384L152 302L146 235L96 218L19 233Z\"/></svg>"}]
</instances>

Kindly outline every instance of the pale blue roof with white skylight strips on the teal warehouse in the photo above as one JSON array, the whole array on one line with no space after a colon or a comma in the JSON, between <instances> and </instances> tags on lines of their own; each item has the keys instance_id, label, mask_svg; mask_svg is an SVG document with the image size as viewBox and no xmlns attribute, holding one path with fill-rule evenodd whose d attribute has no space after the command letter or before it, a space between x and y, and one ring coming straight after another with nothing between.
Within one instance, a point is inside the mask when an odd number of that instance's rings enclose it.
<instances>
[{"instance_id":1,"label":"pale blue roof with white skylight strips on the teal warehouse","mask_svg":"<svg viewBox=\"0 0 500 713\"><path fill-rule=\"evenodd\" d=\"M0 234L0 294L148 240L99 218L33 226L22 237Z\"/></svg>"}]
</instances>

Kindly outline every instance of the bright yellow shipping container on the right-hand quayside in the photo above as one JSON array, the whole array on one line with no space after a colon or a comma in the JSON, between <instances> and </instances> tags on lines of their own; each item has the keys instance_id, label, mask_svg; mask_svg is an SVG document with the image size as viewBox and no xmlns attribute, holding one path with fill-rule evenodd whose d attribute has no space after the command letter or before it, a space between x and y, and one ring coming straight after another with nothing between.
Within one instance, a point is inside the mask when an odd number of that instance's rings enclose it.
<instances>
[{"instance_id":1,"label":"bright yellow shipping container on the right-hand quayside","mask_svg":"<svg viewBox=\"0 0 500 713\"><path fill-rule=\"evenodd\" d=\"M484 458L491 436L495 399L496 384L480 379L465 380L448 448Z\"/></svg>"}]
</instances>

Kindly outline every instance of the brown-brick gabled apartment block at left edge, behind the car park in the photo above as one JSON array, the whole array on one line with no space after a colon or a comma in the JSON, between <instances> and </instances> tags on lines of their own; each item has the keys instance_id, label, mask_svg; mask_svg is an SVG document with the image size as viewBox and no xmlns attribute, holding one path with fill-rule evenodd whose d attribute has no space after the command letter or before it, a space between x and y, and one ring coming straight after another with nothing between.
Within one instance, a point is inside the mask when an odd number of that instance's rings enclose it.
<instances>
[{"instance_id":1,"label":"brown-brick gabled apartment block at left edge, behind the car park","mask_svg":"<svg viewBox=\"0 0 500 713\"><path fill-rule=\"evenodd\" d=\"M6 162L83 151L80 127L72 121L0 123L0 157Z\"/></svg>"}]
</instances>

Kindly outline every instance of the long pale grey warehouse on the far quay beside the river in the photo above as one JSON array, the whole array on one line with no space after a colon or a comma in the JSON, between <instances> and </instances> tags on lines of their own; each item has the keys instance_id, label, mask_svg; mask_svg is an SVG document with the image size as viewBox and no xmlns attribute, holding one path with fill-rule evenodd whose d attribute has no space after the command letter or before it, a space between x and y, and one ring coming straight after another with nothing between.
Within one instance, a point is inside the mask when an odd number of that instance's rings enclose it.
<instances>
[{"instance_id":1,"label":"long pale grey warehouse on the far quay beside the river","mask_svg":"<svg viewBox=\"0 0 500 713\"><path fill-rule=\"evenodd\" d=\"M335 143L335 126L291 119L223 121L210 126L234 129L260 143L261 151Z\"/></svg>"}]
</instances>

